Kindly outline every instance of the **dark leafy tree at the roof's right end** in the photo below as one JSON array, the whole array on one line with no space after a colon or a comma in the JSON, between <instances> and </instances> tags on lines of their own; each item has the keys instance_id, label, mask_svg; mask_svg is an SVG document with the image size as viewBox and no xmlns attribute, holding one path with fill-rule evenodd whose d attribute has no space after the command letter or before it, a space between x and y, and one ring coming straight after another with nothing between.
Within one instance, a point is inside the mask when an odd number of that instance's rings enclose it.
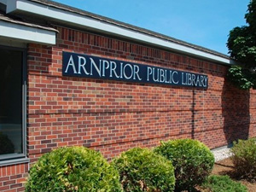
<instances>
[{"instance_id":1,"label":"dark leafy tree at the roof's right end","mask_svg":"<svg viewBox=\"0 0 256 192\"><path fill-rule=\"evenodd\" d=\"M230 67L228 77L242 90L256 87L256 0L248 4L245 19L248 25L232 29L227 43L231 58L241 63Z\"/></svg>"}]
</instances>

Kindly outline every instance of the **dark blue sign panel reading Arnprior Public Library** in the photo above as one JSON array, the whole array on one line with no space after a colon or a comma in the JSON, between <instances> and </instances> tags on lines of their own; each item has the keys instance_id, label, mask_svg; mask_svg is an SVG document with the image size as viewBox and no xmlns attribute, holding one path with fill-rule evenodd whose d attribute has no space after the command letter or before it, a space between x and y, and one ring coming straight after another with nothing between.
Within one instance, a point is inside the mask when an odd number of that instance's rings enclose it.
<instances>
[{"instance_id":1,"label":"dark blue sign panel reading Arnprior Public Library","mask_svg":"<svg viewBox=\"0 0 256 192\"><path fill-rule=\"evenodd\" d=\"M62 75L202 89L208 87L207 75L70 52L63 52Z\"/></svg>"}]
</instances>

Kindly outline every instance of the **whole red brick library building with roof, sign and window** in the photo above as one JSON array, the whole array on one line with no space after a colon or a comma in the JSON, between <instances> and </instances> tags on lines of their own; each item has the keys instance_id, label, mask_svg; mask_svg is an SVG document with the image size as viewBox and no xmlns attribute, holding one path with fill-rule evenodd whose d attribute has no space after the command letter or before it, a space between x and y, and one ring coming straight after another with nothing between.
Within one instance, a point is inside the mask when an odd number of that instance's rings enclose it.
<instances>
[{"instance_id":1,"label":"whole red brick library building with roof, sign and window","mask_svg":"<svg viewBox=\"0 0 256 192\"><path fill-rule=\"evenodd\" d=\"M189 137L209 148L255 137L255 90L210 49L47 0L0 0L0 191L62 146L108 160ZM2 143L1 143L2 141Z\"/></svg>"}]
</instances>

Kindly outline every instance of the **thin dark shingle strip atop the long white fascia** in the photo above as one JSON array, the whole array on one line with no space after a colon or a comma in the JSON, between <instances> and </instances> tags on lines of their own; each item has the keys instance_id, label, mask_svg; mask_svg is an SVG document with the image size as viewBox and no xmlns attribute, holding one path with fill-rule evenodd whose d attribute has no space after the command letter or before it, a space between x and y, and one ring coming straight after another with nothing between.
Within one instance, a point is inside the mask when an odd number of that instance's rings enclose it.
<instances>
[{"instance_id":1,"label":"thin dark shingle strip atop the long white fascia","mask_svg":"<svg viewBox=\"0 0 256 192\"><path fill-rule=\"evenodd\" d=\"M165 40L170 41L172 43L181 44L181 45L187 46L189 48L198 49L198 50L207 52L207 53L212 54L212 55L218 55L218 56L230 59L229 55L224 55L222 53L219 53L218 51L215 51L215 50L212 50L212 49L207 49L207 48L201 47L199 45L195 45L195 44L189 44L188 42L179 40L177 38L171 38L169 36L160 34L158 32L153 32L153 31L144 29L142 27L133 26L131 24L127 24L125 22L121 22L121 21L118 21L118 20L113 20L113 19L101 16L101 15L92 14L88 11L73 8L73 7L67 6L67 5L62 4L62 3L56 3L56 2L50 1L50 0L30 0L30 1L35 2L35 3L41 3L41 4L47 5L49 7L54 7L56 9L62 9L62 10L66 10L66 11L69 11L69 12L73 12L75 14L84 15L86 17L90 17L90 18L95 19L95 20L101 20L103 22L107 22L107 23L113 24L115 26L125 27L127 29L130 29L130 30L133 30L133 31L136 31L136 32L142 32L144 34L153 36L155 38L165 39Z\"/></svg>"}]
</instances>

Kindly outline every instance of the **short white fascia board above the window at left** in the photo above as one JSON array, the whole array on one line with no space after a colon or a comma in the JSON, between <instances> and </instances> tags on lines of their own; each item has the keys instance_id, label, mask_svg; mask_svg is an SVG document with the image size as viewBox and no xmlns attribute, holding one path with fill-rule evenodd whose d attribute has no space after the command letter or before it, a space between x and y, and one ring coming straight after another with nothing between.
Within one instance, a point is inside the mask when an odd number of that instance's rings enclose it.
<instances>
[{"instance_id":1,"label":"short white fascia board above the window at left","mask_svg":"<svg viewBox=\"0 0 256 192\"><path fill-rule=\"evenodd\" d=\"M22 26L0 20L0 37L14 38L28 43L55 44L55 32Z\"/></svg>"}]
</instances>

